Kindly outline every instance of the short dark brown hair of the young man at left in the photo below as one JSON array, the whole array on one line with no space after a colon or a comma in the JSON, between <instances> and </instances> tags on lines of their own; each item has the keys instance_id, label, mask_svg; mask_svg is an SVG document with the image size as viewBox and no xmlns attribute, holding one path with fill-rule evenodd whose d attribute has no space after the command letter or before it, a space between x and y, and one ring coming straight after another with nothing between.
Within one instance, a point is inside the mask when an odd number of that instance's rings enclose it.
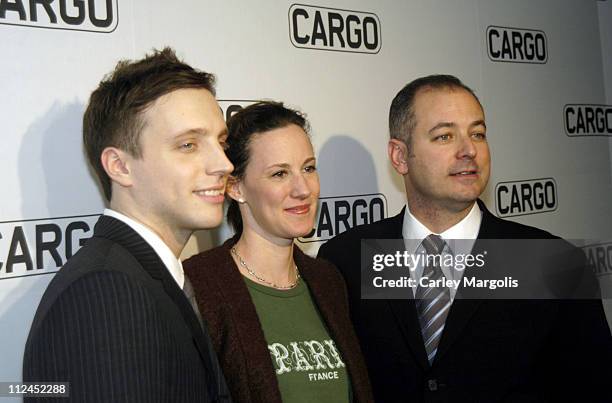
<instances>
[{"instance_id":1,"label":"short dark brown hair of the young man at left","mask_svg":"<svg viewBox=\"0 0 612 403\"><path fill-rule=\"evenodd\" d=\"M137 61L121 60L91 94L83 116L83 143L89 163L110 200L111 180L100 161L106 147L141 157L143 113L159 97L183 88L215 94L215 76L196 70L176 57L171 48L154 50Z\"/></svg>"}]
</instances>

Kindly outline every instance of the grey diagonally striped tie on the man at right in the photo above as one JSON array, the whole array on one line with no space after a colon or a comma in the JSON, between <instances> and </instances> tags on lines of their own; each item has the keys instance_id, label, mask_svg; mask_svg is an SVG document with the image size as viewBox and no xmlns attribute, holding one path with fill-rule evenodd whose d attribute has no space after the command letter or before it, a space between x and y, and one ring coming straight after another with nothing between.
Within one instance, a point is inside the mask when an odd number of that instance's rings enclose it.
<instances>
[{"instance_id":1,"label":"grey diagonally striped tie on the man at right","mask_svg":"<svg viewBox=\"0 0 612 403\"><path fill-rule=\"evenodd\" d=\"M433 264L434 262L430 260L432 260L431 255L440 255L442 253L446 245L444 240L438 235L431 234L423 239L422 245L425 248L425 252L430 256L428 263L432 263L425 266L423 277L429 278L429 282L443 279L444 273L442 273L442 268L439 265ZM436 260L435 263L438 263L440 259ZM448 287L444 286L419 286L416 291L415 299L419 322L421 324L421 334L423 335L423 342L425 343L425 351L427 353L427 359L431 364L438 351L438 343L442 337L444 323L446 322L446 317L450 310L450 290Z\"/></svg>"}]
</instances>

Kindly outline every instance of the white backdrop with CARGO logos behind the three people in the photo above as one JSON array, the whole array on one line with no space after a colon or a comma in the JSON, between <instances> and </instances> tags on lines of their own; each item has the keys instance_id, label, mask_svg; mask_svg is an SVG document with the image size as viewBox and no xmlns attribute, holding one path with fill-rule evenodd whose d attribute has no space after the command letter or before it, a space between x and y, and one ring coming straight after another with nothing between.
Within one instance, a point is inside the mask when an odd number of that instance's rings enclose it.
<instances>
[{"instance_id":1,"label":"white backdrop with CARGO logos behind the three people","mask_svg":"<svg viewBox=\"0 0 612 403\"><path fill-rule=\"evenodd\" d=\"M309 253L400 210L389 104L408 81L450 73L485 106L490 210L590 240L612 287L612 100L595 0L307 3L0 1L0 381L21 379L38 300L104 207L82 153L88 96L119 59L165 45L217 74L227 115L262 98L308 114L322 186L300 239ZM201 233L184 254L227 235Z\"/></svg>"}]
</instances>

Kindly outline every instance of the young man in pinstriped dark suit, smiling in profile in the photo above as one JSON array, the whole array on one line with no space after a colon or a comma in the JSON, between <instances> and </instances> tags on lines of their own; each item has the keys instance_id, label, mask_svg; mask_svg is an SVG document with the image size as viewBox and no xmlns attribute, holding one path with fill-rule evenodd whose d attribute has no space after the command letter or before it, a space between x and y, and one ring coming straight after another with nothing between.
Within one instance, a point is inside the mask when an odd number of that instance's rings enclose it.
<instances>
[{"instance_id":1,"label":"young man in pinstriped dark suit, smiling in profile","mask_svg":"<svg viewBox=\"0 0 612 403\"><path fill-rule=\"evenodd\" d=\"M69 382L75 402L231 401L178 258L221 222L226 136L214 76L169 48L100 83L83 140L109 208L43 295L24 381Z\"/></svg>"}]
</instances>

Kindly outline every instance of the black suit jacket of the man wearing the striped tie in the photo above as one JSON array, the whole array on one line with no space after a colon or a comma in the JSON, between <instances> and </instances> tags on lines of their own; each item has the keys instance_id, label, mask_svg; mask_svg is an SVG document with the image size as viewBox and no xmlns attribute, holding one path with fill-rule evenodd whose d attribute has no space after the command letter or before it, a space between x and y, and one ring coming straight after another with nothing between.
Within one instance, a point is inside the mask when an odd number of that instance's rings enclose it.
<instances>
[{"instance_id":1,"label":"black suit jacket of the man wearing the striped tie","mask_svg":"<svg viewBox=\"0 0 612 403\"><path fill-rule=\"evenodd\" d=\"M479 206L479 239L554 238ZM353 228L319 250L347 282L377 402L612 402L612 338L598 300L455 299L430 366L413 299L360 298L360 240L401 239L403 220L404 211Z\"/></svg>"}]
</instances>

